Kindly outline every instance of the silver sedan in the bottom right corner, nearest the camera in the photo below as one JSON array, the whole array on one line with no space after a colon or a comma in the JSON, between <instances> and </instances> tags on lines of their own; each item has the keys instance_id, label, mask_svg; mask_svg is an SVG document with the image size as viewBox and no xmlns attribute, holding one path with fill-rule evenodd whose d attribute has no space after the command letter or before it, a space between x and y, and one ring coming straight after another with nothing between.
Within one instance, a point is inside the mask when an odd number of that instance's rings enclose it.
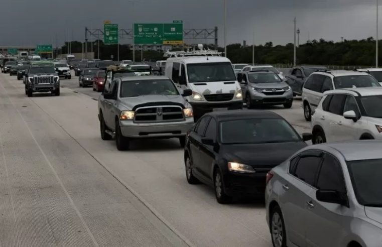
<instances>
[{"instance_id":1,"label":"silver sedan in the bottom right corner, nearest the camera","mask_svg":"<svg viewBox=\"0 0 382 247\"><path fill-rule=\"evenodd\" d=\"M382 142L302 149L267 175L274 246L382 246Z\"/></svg>"}]
</instances>

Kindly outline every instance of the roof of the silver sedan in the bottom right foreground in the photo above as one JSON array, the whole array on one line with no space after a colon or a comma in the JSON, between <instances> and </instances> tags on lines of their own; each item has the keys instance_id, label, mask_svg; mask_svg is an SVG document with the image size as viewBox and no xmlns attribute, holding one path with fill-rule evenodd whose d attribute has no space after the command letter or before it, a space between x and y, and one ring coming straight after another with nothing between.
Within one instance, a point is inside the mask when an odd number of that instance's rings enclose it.
<instances>
[{"instance_id":1,"label":"roof of the silver sedan in the bottom right foreground","mask_svg":"<svg viewBox=\"0 0 382 247\"><path fill-rule=\"evenodd\" d=\"M349 142L326 143L311 146L309 149L324 151L336 150L347 161L382 159L382 141L358 140ZM308 149L308 150L309 150Z\"/></svg>"}]
</instances>

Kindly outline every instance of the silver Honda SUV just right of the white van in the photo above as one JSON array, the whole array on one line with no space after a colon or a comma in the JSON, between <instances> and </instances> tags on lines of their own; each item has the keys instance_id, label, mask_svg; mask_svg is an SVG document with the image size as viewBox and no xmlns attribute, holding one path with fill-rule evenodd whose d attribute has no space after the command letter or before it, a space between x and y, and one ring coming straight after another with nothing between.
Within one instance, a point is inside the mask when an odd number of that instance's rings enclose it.
<instances>
[{"instance_id":1,"label":"silver Honda SUV just right of the white van","mask_svg":"<svg viewBox=\"0 0 382 247\"><path fill-rule=\"evenodd\" d=\"M248 109L255 105L282 104L291 108L293 92L291 87L280 77L269 70L244 71L237 74L243 93L243 100Z\"/></svg>"}]
</instances>

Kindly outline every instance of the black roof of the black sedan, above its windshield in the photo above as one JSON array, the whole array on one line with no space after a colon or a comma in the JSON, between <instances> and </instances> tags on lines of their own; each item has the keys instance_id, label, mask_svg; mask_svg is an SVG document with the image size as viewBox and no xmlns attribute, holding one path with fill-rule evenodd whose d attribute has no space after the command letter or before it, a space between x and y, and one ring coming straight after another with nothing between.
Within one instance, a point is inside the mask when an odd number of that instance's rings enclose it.
<instances>
[{"instance_id":1,"label":"black roof of the black sedan, above its windshield","mask_svg":"<svg viewBox=\"0 0 382 247\"><path fill-rule=\"evenodd\" d=\"M213 116L219 120L246 119L246 118L281 118L279 114L268 110L216 110L205 115Z\"/></svg>"}]
</instances>

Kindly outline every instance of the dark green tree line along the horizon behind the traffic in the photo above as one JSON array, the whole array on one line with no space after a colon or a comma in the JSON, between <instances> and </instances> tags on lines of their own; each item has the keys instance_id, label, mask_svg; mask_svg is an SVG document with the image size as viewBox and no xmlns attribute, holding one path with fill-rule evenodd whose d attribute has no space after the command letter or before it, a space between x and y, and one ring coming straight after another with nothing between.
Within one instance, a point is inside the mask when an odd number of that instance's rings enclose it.
<instances>
[{"instance_id":1,"label":"dark green tree line along the horizon behind the traffic","mask_svg":"<svg viewBox=\"0 0 382 247\"><path fill-rule=\"evenodd\" d=\"M379 41L381 43L381 41ZM81 53L82 44L78 41L70 42L72 53ZM94 57L98 57L98 41L93 41ZM257 64L292 64L293 44L274 46L272 42L254 47L254 61ZM213 49L213 45L208 45ZM58 53L67 53L68 44L59 48ZM219 51L224 48L219 47ZM380 49L382 50L382 49ZM379 51L380 51L379 50ZM91 42L87 44L87 51L91 51ZM117 57L117 45L104 45L99 41L100 59ZM372 37L363 40L344 40L343 42L326 41L324 39L308 41L296 49L297 64L338 65L338 66L373 66L375 65L375 40ZM252 46L243 47L241 44L227 46L227 57L232 63L252 63ZM379 54L379 64L382 64L382 54ZM119 45L119 59L133 59L133 51L129 45ZM144 51L145 61L163 59L162 51ZM136 61L141 60L141 52L136 51Z\"/></svg>"}]
</instances>

